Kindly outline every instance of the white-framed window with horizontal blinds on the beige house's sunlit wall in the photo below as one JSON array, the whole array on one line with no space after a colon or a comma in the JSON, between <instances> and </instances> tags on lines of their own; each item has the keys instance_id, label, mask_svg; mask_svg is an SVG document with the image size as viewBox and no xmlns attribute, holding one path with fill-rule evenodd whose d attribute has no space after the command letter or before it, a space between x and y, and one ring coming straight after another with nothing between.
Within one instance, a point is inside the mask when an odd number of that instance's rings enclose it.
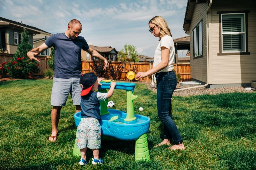
<instances>
[{"instance_id":1,"label":"white-framed window with horizontal blinds on the beige house's sunlit wall","mask_svg":"<svg viewBox=\"0 0 256 170\"><path fill-rule=\"evenodd\" d=\"M222 53L245 52L245 14L222 14Z\"/></svg>"}]
</instances>

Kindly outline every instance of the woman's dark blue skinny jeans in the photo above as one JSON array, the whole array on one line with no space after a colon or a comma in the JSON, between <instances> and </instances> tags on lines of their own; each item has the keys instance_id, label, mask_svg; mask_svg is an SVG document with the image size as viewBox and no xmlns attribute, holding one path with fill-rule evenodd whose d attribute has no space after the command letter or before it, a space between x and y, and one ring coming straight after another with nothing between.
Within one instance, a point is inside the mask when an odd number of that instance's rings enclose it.
<instances>
[{"instance_id":1,"label":"woman's dark blue skinny jeans","mask_svg":"<svg viewBox=\"0 0 256 170\"><path fill-rule=\"evenodd\" d=\"M183 142L176 124L172 119L172 94L177 85L174 71L156 74L157 112L164 125L164 139L173 138L175 144Z\"/></svg>"}]
</instances>

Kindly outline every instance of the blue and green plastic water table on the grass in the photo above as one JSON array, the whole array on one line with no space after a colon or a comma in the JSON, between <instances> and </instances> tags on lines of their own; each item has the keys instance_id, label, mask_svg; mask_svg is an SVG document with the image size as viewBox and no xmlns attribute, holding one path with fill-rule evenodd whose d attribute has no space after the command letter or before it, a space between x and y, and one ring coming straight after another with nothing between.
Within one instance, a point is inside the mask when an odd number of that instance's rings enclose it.
<instances>
[{"instance_id":1,"label":"blue and green plastic water table on the grass","mask_svg":"<svg viewBox=\"0 0 256 170\"><path fill-rule=\"evenodd\" d=\"M99 85L99 92L107 92L110 88L110 82ZM101 135L114 137L121 140L135 140L135 160L150 160L148 150L147 133L150 126L150 118L134 113L133 100L138 98L133 95L134 83L116 83L115 89L127 91L127 113L115 109L107 109L108 100L100 101L101 114ZM76 127L81 120L81 112L74 115ZM76 140L73 149L74 156L80 156L80 149L76 146Z\"/></svg>"}]
</instances>

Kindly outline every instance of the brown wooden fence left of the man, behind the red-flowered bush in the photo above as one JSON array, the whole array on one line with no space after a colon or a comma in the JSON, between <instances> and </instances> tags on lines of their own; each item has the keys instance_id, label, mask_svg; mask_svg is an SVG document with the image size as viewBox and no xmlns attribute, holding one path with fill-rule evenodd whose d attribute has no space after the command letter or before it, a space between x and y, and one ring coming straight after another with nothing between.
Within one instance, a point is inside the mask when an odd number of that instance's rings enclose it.
<instances>
[{"instance_id":1,"label":"brown wooden fence left of the man, behind the red-flowered bush","mask_svg":"<svg viewBox=\"0 0 256 170\"><path fill-rule=\"evenodd\" d=\"M3 62L8 62L9 60L11 60L13 58L13 54L5 54L5 53L0 53L0 64ZM40 72L35 74L35 75L44 75L44 71L46 69L49 69L49 66L47 64L47 56L37 56L36 58L40 59L40 65L38 66L38 68L40 69Z\"/></svg>"}]
</instances>

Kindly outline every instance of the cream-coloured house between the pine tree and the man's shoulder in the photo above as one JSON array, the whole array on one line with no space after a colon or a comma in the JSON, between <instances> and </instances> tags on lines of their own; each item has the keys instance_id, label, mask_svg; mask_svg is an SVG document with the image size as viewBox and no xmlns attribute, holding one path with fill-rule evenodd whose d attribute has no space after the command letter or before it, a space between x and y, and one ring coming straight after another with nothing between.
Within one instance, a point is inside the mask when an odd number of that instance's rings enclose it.
<instances>
[{"instance_id":1,"label":"cream-coloured house between the pine tree and the man's shoulder","mask_svg":"<svg viewBox=\"0 0 256 170\"><path fill-rule=\"evenodd\" d=\"M46 31L38 31L40 34L36 34L33 37L33 48L40 46L41 44L43 44L48 37L50 37L52 34L48 33ZM43 56L50 56L51 54L51 49L47 49L45 51L43 51L41 54L39 55L43 55Z\"/></svg>"}]
</instances>

